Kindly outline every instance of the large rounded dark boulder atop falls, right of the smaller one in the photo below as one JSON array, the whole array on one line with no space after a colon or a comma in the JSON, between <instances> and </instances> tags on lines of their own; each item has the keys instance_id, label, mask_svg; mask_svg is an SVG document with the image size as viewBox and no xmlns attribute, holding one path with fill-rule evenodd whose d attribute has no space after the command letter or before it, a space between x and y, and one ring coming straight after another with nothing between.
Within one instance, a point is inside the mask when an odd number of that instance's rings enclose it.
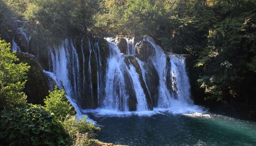
<instances>
[{"instance_id":1,"label":"large rounded dark boulder atop falls, right of the smaller one","mask_svg":"<svg viewBox=\"0 0 256 146\"><path fill-rule=\"evenodd\" d=\"M147 61L150 56L155 55L154 47L147 41L141 41L135 46L136 54L142 61Z\"/></svg>"}]
</instances>

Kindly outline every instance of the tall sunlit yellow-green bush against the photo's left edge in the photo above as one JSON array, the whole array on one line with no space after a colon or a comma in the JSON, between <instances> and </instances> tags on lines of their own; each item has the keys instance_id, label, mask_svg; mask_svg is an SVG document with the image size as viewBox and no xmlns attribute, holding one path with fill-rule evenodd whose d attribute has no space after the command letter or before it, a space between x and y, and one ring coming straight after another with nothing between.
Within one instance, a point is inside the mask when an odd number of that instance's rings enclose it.
<instances>
[{"instance_id":1,"label":"tall sunlit yellow-green bush against the photo's left edge","mask_svg":"<svg viewBox=\"0 0 256 146\"><path fill-rule=\"evenodd\" d=\"M30 66L23 63L15 64L18 58L15 52L10 50L10 43L0 39L0 109L26 103L26 96L22 90Z\"/></svg>"}]
</instances>

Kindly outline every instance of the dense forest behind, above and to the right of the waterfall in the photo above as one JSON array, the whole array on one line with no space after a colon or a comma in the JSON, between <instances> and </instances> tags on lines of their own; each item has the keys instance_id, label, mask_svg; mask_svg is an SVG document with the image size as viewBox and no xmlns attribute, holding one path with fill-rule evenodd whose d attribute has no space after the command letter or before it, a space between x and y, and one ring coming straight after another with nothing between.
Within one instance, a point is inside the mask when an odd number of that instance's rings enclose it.
<instances>
[{"instance_id":1,"label":"dense forest behind, above and to the right of the waterfall","mask_svg":"<svg viewBox=\"0 0 256 146\"><path fill-rule=\"evenodd\" d=\"M187 55L192 93L255 110L254 0L1 0L0 32L27 22L30 36L56 43L71 36L149 35ZM14 33L14 32L13 32ZM200 89L201 88L201 89ZM236 107L235 106L235 107Z\"/></svg>"}]
</instances>

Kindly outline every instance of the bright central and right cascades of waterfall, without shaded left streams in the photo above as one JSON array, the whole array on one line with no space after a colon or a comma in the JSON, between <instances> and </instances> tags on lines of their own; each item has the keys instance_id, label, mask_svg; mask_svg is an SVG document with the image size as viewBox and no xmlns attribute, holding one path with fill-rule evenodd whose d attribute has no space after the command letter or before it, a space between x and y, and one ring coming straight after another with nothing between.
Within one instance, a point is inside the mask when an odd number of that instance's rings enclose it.
<instances>
[{"instance_id":1,"label":"bright central and right cascades of waterfall, without shaded left streams","mask_svg":"<svg viewBox=\"0 0 256 146\"><path fill-rule=\"evenodd\" d=\"M128 100L131 94L123 86L128 86L125 72L131 78L132 88L136 96L136 110L148 110L149 104L152 104L153 97L151 97L150 89L148 88L146 74L150 75L150 67L154 66L158 76L158 95L157 107L158 108L173 108L177 106L190 106L193 105L190 95L189 79L185 70L185 58L176 54L166 54L163 49L156 45L154 40L150 37L143 37L141 40L151 44L153 51L148 51L150 48L142 48L145 50L144 54L138 53L138 42L134 44L135 38L125 38L127 41L127 55L120 53L120 48L117 47L118 39L106 38L109 42L110 57L108 58L108 69L106 73L106 88L103 108L127 111L130 105ZM143 45L143 44L142 44ZM150 46L150 45L148 45ZM148 52L147 60L141 60ZM134 57L135 60L131 60ZM125 58L129 58L125 62ZM133 63L131 63L133 62ZM139 66L134 66L139 64ZM140 73L141 70L141 73ZM141 74L141 75L140 75ZM142 80L140 79L142 78ZM146 87L143 87L145 85ZM154 85L151 85L154 86ZM149 99L146 97L148 93ZM120 108L121 107L121 108ZM126 108L124 108L126 107Z\"/></svg>"}]
</instances>

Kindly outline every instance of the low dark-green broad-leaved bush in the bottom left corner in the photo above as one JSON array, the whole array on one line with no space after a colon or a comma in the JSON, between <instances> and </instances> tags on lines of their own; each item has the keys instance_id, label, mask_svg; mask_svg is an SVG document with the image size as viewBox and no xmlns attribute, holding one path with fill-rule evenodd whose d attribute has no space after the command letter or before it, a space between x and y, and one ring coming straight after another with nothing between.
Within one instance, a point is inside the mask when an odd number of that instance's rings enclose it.
<instances>
[{"instance_id":1,"label":"low dark-green broad-leaved bush in the bottom left corner","mask_svg":"<svg viewBox=\"0 0 256 146\"><path fill-rule=\"evenodd\" d=\"M0 141L10 145L65 145L68 134L60 121L41 105L4 111L0 120Z\"/></svg>"}]
</instances>

